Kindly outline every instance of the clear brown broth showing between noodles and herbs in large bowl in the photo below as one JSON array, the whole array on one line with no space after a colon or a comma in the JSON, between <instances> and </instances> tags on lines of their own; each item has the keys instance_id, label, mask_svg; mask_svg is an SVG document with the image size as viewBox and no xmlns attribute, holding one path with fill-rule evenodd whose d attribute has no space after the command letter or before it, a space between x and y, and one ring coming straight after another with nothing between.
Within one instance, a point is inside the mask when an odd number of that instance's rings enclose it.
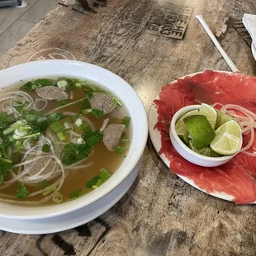
<instances>
[{"instance_id":1,"label":"clear brown broth showing between noodles and herbs in large bowl","mask_svg":"<svg viewBox=\"0 0 256 256\"><path fill-rule=\"evenodd\" d=\"M13 90L17 90L23 85L24 82L12 85L8 88L5 88L2 90L2 92L9 92ZM33 97L34 101L39 98L36 95L36 92L28 92L31 97ZM83 88L75 88L73 89L73 99L70 100L69 102L76 102L79 99L82 99L86 97L86 92L83 91ZM53 101L48 101L48 106L42 111L42 113L47 113L56 107L59 107L60 103L57 102L56 100ZM58 111L72 111L75 113L79 113L81 111L81 104L74 104L72 106L68 107L63 107L62 109ZM114 117L115 116L115 117ZM126 110L126 107L117 107L117 110L114 113L96 117L92 116L91 113L86 115L86 117L92 121L92 124L95 126L96 130L99 130L102 127L102 123L106 118L109 118L108 124L121 124L122 123L122 118L124 116L130 116L128 111ZM65 121L69 121L70 116L66 116L63 120L61 120L62 123ZM130 125L131 126L131 125ZM130 140L131 136L131 129L130 126L126 128L126 139ZM49 128L48 128L49 129ZM79 133L78 130L76 130L77 133ZM69 143L69 136L67 136L67 140L64 141L64 143ZM60 145L60 149L63 149L64 145ZM103 144L101 141L99 144L93 146L93 153L88 157L88 159L84 159L84 161L81 164L90 164L92 165L88 168L78 168L74 170L67 170L65 171L66 173L66 178L64 181L63 187L59 190L59 192L63 195L63 202L69 201L69 193L73 192L74 190L81 188L83 192L90 192L92 189L86 188L85 185L90 180L91 178L95 177L98 173L100 173L102 168L107 168L111 173L115 173L116 170L121 166L122 162L124 161L127 152L124 152L124 154L116 154L113 151L109 151L107 147ZM21 160L21 155L16 156L16 162ZM14 173L17 173L17 169L14 169ZM11 175L7 176L8 178ZM59 176L51 180L51 183L54 183L56 180L58 180ZM0 187L0 197L2 198L7 198L5 196L8 195L15 195L17 192L17 186L18 182L13 183L9 187L2 188ZM36 184L26 184L26 187L29 189L30 192L36 192ZM43 199L45 196L43 194L36 195L35 197L24 197L24 198L17 198L17 201L39 201ZM55 205L54 201L47 201L45 203L41 203L39 206L47 206L47 205Z\"/></svg>"}]
</instances>

